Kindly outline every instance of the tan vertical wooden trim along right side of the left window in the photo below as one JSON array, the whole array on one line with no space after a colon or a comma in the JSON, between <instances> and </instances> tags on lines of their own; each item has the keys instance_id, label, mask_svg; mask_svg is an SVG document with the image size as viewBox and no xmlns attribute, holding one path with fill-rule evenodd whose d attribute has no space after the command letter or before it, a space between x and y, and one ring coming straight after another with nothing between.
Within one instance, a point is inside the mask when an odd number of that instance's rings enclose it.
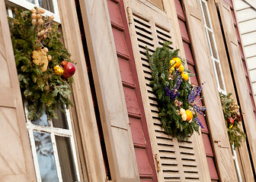
<instances>
[{"instance_id":1,"label":"tan vertical wooden trim along right side of the left window","mask_svg":"<svg viewBox=\"0 0 256 182\"><path fill-rule=\"evenodd\" d=\"M82 153L85 155L86 167L82 168L84 177L89 181L104 181L104 162L98 135L94 105L91 98L85 55L82 47L75 1L58 1L59 15L62 22L62 33L66 48L77 63L74 84L72 85L75 99L75 113L78 118L77 133L81 133ZM75 115L75 113L72 113ZM88 138L90 140L88 140Z\"/></svg>"}]
</instances>

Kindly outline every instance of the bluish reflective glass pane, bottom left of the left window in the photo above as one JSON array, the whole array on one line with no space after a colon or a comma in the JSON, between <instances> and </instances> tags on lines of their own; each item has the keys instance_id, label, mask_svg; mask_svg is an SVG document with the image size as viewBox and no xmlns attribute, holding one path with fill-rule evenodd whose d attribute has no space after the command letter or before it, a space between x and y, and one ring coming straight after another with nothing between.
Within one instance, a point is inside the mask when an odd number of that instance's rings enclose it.
<instances>
[{"instance_id":1,"label":"bluish reflective glass pane, bottom left of the left window","mask_svg":"<svg viewBox=\"0 0 256 182\"><path fill-rule=\"evenodd\" d=\"M58 181L50 133L34 132L42 182Z\"/></svg>"}]
</instances>

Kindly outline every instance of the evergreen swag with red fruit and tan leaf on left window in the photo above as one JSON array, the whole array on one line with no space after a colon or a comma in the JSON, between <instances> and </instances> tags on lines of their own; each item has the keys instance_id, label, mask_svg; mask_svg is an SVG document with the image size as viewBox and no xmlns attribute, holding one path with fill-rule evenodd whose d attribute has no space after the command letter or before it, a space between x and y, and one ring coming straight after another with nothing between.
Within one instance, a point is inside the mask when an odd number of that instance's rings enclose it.
<instances>
[{"instance_id":1,"label":"evergreen swag with red fruit and tan leaf on left window","mask_svg":"<svg viewBox=\"0 0 256 182\"><path fill-rule=\"evenodd\" d=\"M61 33L53 16L43 17L43 8L15 10L9 17L11 40L27 118L35 121L46 113L56 118L56 109L69 108L75 66L59 41Z\"/></svg>"}]
</instances>

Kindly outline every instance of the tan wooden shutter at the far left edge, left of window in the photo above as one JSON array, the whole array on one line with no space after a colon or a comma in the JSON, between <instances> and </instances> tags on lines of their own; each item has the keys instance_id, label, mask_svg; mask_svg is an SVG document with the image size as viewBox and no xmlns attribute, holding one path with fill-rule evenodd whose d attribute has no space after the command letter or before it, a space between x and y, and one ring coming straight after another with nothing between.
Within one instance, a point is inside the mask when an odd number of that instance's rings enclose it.
<instances>
[{"instance_id":1,"label":"tan wooden shutter at the far left edge, left of window","mask_svg":"<svg viewBox=\"0 0 256 182\"><path fill-rule=\"evenodd\" d=\"M0 181L35 181L5 1L0 2L0 63Z\"/></svg>"}]
</instances>

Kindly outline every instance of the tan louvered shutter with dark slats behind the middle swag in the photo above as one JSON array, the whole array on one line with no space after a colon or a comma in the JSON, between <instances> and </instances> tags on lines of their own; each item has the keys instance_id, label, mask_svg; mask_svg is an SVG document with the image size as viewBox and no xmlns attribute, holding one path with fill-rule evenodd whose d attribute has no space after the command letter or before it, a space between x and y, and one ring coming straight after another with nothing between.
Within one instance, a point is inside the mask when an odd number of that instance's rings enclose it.
<instances>
[{"instance_id":1,"label":"tan louvered shutter with dark slats behind the middle swag","mask_svg":"<svg viewBox=\"0 0 256 182\"><path fill-rule=\"evenodd\" d=\"M165 134L158 118L155 95L149 86L151 72L146 58L147 46L150 54L165 41L174 41L171 20L163 11L157 12L149 5L130 1L130 30L133 52L139 75L142 97L146 110L149 133L158 171L158 181L200 181L199 158L196 158L194 143L190 140L178 142ZM143 10L143 11L142 11ZM174 49L174 45L170 45ZM155 144L155 146L154 146Z\"/></svg>"}]
</instances>

